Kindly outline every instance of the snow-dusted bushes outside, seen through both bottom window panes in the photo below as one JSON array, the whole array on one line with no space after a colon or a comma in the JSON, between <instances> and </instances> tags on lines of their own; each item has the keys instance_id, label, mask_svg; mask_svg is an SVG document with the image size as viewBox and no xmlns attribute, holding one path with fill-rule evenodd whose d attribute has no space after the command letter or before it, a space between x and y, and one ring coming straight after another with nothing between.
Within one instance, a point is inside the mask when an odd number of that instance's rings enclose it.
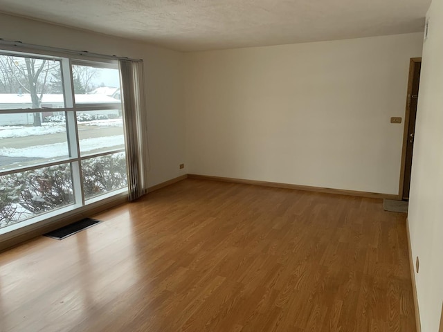
<instances>
[{"instance_id":1,"label":"snow-dusted bushes outside, seen through both bottom window panes","mask_svg":"<svg viewBox=\"0 0 443 332\"><path fill-rule=\"evenodd\" d=\"M82 161L87 198L127 185L125 154ZM0 177L0 228L74 203L69 164Z\"/></svg>"}]
</instances>

